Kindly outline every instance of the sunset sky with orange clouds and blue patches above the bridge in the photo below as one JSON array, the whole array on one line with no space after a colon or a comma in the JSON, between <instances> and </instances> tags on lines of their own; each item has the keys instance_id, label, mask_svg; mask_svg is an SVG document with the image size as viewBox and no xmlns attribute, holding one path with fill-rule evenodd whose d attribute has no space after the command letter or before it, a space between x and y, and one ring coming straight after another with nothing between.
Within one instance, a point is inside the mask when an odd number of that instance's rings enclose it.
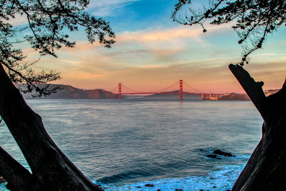
<instances>
[{"instance_id":1,"label":"sunset sky with orange clouds and blue patches above the bridge","mask_svg":"<svg viewBox=\"0 0 286 191\"><path fill-rule=\"evenodd\" d=\"M202 7L205 0L193 0ZM90 0L87 11L110 22L116 34L111 49L90 44L85 32L70 33L75 48L62 48L52 56L42 56L33 68L55 70L63 78L55 84L83 89L112 90L118 83L153 92L178 80L205 93L243 93L228 65L236 64L243 51L232 23L210 25L206 33L198 25L180 25L170 18L177 0ZM188 8L188 5L184 7ZM16 18L13 25L22 23ZM263 89L282 87L286 74L285 26L269 35L263 49L256 50L244 68ZM23 48L26 62L40 56L28 45Z\"/></svg>"}]
</instances>

